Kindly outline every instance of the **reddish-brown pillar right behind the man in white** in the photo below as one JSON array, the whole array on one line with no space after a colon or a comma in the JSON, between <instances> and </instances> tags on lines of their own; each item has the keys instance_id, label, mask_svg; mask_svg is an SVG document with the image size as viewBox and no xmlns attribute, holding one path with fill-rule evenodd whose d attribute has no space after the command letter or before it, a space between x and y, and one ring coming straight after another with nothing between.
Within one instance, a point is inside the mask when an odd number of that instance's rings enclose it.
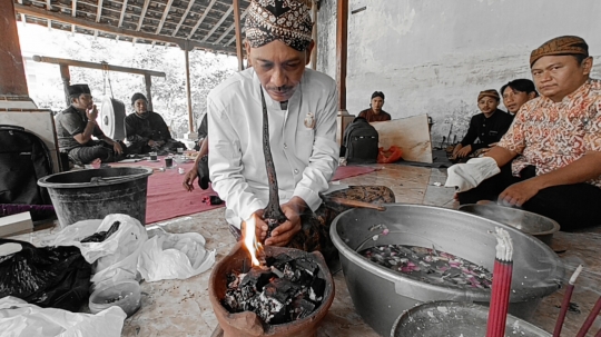
<instances>
[{"instance_id":1,"label":"reddish-brown pillar right behind the man in white","mask_svg":"<svg viewBox=\"0 0 601 337\"><path fill-rule=\"evenodd\" d=\"M338 116L336 141L342 145L344 130L354 116L346 111L346 56L348 36L348 0L337 0L336 22L336 85L338 88Z\"/></svg>"}]
</instances>

